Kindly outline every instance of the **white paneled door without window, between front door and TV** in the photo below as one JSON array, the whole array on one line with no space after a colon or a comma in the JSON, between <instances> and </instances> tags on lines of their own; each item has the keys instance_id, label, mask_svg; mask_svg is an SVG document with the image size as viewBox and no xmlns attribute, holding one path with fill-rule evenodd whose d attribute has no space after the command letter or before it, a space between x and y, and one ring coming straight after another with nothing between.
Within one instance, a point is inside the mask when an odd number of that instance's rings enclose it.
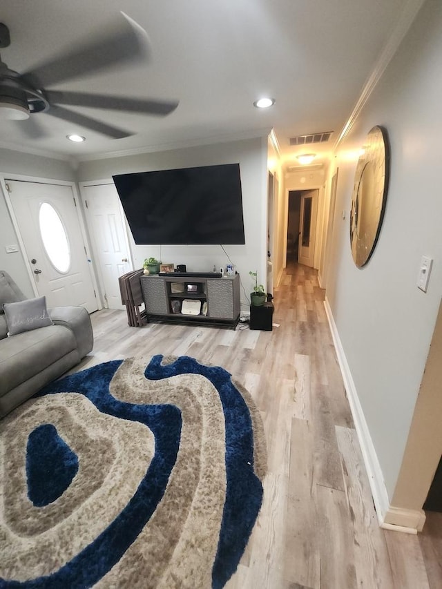
<instances>
[{"instance_id":1,"label":"white paneled door without window, between front door and TV","mask_svg":"<svg viewBox=\"0 0 442 589\"><path fill-rule=\"evenodd\" d=\"M111 183L84 185L81 195L104 306L124 309L118 278L133 267L117 189Z\"/></svg>"}]
</instances>

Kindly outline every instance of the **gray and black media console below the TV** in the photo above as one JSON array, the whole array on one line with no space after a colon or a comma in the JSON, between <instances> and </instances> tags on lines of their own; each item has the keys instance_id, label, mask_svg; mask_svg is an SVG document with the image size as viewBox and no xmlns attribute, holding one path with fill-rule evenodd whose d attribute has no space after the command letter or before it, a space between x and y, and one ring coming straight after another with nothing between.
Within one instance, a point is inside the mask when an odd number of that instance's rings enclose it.
<instances>
[{"instance_id":1,"label":"gray and black media console below the TV","mask_svg":"<svg viewBox=\"0 0 442 589\"><path fill-rule=\"evenodd\" d=\"M153 274L142 276L141 285L148 320L186 325L219 325L233 329L238 325L239 274L222 278ZM182 302L186 299L201 302L199 315L180 312Z\"/></svg>"}]
</instances>

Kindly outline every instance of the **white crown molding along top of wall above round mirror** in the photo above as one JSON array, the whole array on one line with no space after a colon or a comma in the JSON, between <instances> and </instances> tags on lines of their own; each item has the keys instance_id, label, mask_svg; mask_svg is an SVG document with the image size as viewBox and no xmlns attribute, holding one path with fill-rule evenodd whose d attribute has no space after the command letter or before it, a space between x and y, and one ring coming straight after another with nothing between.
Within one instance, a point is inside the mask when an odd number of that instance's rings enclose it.
<instances>
[{"instance_id":1,"label":"white crown molding along top of wall above round mirror","mask_svg":"<svg viewBox=\"0 0 442 589\"><path fill-rule=\"evenodd\" d=\"M338 148L340 142L342 142L343 139L348 135L350 129L361 113L361 110L364 108L374 88L376 88L378 81L385 72L385 68L387 68L388 64L390 64L390 61L401 44L401 41L407 34L410 26L412 26L412 23L416 18L419 10L421 10L424 1L425 0L408 0L408 2L405 4L396 27L394 28L390 39L388 39L387 44L385 44L372 74L365 81L361 96L358 98L358 101L352 110L352 114L349 116L349 119L343 126L343 130L340 132L338 139L336 139L336 143L334 144L334 151L336 148Z\"/></svg>"}]
</instances>

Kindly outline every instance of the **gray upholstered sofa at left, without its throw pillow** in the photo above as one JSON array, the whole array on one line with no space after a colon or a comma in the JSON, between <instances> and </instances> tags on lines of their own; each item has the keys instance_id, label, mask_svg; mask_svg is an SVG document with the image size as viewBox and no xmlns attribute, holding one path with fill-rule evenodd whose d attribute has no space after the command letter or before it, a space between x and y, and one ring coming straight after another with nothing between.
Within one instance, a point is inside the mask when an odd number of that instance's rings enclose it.
<instances>
[{"instance_id":1,"label":"gray upholstered sofa at left, without its throw pillow","mask_svg":"<svg viewBox=\"0 0 442 589\"><path fill-rule=\"evenodd\" d=\"M84 307L49 308L52 325L8 337L3 304L24 300L17 284L0 270L0 418L78 364L93 348L92 325Z\"/></svg>"}]
</instances>

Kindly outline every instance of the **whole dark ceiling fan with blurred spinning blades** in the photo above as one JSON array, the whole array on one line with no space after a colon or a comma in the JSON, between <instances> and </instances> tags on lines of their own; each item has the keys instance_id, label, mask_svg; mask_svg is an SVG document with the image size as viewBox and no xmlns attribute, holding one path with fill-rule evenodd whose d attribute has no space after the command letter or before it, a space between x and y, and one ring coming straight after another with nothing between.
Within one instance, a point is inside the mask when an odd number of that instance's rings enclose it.
<instances>
[{"instance_id":1,"label":"whole dark ceiling fan with blurred spinning blades","mask_svg":"<svg viewBox=\"0 0 442 589\"><path fill-rule=\"evenodd\" d=\"M46 113L108 137L121 139L134 133L81 115L65 106L86 106L158 116L172 113L178 106L176 101L137 99L46 88L61 81L97 73L119 64L145 61L148 58L146 32L124 12L121 14L123 18L119 19L118 23L104 32L101 29L93 41L86 41L81 47L65 52L22 74L8 68L0 58L0 118L19 120L28 119L30 115L33 118L35 114ZM8 27L0 23L0 48L9 45ZM36 131L36 126L24 128L29 135L41 134L38 128Z\"/></svg>"}]
</instances>

